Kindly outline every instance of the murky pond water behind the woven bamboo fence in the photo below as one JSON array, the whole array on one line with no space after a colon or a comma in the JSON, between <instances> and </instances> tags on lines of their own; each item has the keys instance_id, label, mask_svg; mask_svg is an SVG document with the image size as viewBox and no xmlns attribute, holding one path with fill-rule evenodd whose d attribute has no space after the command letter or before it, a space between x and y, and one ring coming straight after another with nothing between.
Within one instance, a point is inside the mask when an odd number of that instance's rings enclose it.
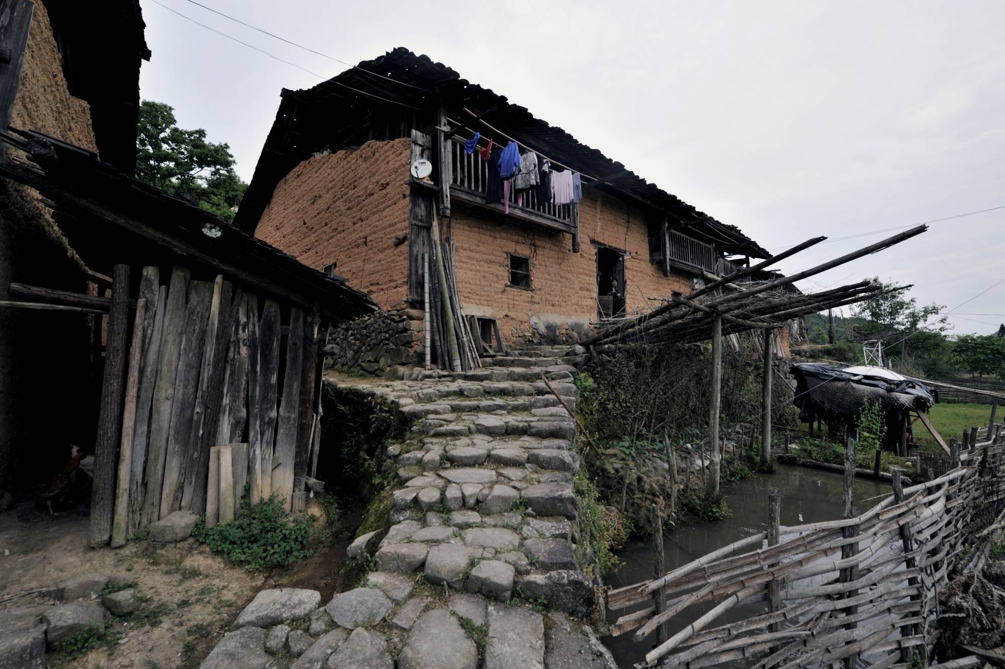
<instances>
[{"instance_id":1,"label":"murky pond water behind the woven bamboo fence","mask_svg":"<svg viewBox=\"0 0 1005 669\"><path fill-rule=\"evenodd\" d=\"M779 465L774 474L762 474L740 481L730 488L726 500L733 510L733 517L716 523L681 524L667 532L663 536L665 563L662 572L669 572L737 539L764 531L768 520L768 489L772 487L782 491L783 525L833 520L841 517L844 510L841 500L843 478L840 474ZM854 503L864 511L878 500L862 500L888 490L888 485L877 481L856 480ZM607 585L611 588L652 578L651 539L629 543L618 556L624 565L607 578ZM717 623L748 618L764 611L763 607L763 604L737 607ZM608 619L613 622L618 616L630 611L610 612ZM672 635L682 627L683 623L674 627L671 621L669 633ZM645 654L656 645L655 640L656 634L653 633L641 642L634 642L629 632L620 637L605 637L603 642L613 653L618 666L628 669L634 663L642 661Z\"/></svg>"}]
</instances>

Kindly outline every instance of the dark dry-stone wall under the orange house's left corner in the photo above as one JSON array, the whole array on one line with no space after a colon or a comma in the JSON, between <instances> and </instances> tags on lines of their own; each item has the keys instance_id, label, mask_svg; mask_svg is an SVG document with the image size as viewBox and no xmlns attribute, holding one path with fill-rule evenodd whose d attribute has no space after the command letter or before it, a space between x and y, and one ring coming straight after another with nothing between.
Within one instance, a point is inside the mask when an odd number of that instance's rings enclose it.
<instances>
[{"instance_id":1,"label":"dark dry-stone wall under the orange house's left corner","mask_svg":"<svg viewBox=\"0 0 1005 669\"><path fill-rule=\"evenodd\" d=\"M421 364L422 311L381 309L332 329L325 351L325 368L366 372L377 376L397 365Z\"/></svg>"}]
</instances>

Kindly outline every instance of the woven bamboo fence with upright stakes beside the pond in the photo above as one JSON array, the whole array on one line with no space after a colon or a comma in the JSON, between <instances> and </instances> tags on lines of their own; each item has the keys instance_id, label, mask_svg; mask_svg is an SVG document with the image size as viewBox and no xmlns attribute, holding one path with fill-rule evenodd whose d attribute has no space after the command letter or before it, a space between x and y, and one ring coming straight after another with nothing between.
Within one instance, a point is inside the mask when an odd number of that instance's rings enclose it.
<instances>
[{"instance_id":1,"label":"woven bamboo fence with upright stakes beside the pond","mask_svg":"<svg viewBox=\"0 0 1005 669\"><path fill-rule=\"evenodd\" d=\"M658 631L658 644L636 667L927 666L938 593L975 511L990 505L997 513L1005 499L1002 450L997 439L962 453L954 447L951 471L907 488L894 475L892 494L864 513L851 507L847 471L838 520L779 526L773 490L768 531L608 593L613 611L644 605L612 633L635 630L642 641ZM848 451L845 461L853 463L853 442Z\"/></svg>"}]
</instances>

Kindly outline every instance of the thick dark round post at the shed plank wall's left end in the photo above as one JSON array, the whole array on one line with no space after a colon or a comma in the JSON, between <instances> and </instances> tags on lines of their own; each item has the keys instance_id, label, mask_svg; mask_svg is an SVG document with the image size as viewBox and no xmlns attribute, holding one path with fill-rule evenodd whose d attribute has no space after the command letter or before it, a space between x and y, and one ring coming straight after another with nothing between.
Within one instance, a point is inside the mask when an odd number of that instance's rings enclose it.
<instances>
[{"instance_id":1,"label":"thick dark round post at the shed plank wall's left end","mask_svg":"<svg viewBox=\"0 0 1005 669\"><path fill-rule=\"evenodd\" d=\"M126 382L126 338L129 333L129 265L113 269L112 307L109 311L108 347L102 405L94 440L94 478L90 492L91 547L105 545L112 536L116 501L116 465L123 431L123 395Z\"/></svg>"}]
</instances>

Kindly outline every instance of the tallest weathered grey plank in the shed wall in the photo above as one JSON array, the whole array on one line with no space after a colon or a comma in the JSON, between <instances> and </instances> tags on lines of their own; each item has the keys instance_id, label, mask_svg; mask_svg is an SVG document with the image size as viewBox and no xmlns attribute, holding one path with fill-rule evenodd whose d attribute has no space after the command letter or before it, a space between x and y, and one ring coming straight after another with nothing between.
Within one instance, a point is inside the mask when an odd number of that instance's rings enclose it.
<instances>
[{"instance_id":1,"label":"tallest weathered grey plank in the shed wall","mask_svg":"<svg viewBox=\"0 0 1005 669\"><path fill-rule=\"evenodd\" d=\"M161 517L161 489L164 482L164 461L168 449L168 430L171 427L171 404L175 395L175 378L178 376L178 357L181 353L182 329L185 326L186 298L188 296L189 270L175 265L171 272L168 301L164 309L164 327L161 339L161 357L154 387L153 409L150 423L150 445L147 448L146 491L140 514L138 531Z\"/></svg>"}]
</instances>

